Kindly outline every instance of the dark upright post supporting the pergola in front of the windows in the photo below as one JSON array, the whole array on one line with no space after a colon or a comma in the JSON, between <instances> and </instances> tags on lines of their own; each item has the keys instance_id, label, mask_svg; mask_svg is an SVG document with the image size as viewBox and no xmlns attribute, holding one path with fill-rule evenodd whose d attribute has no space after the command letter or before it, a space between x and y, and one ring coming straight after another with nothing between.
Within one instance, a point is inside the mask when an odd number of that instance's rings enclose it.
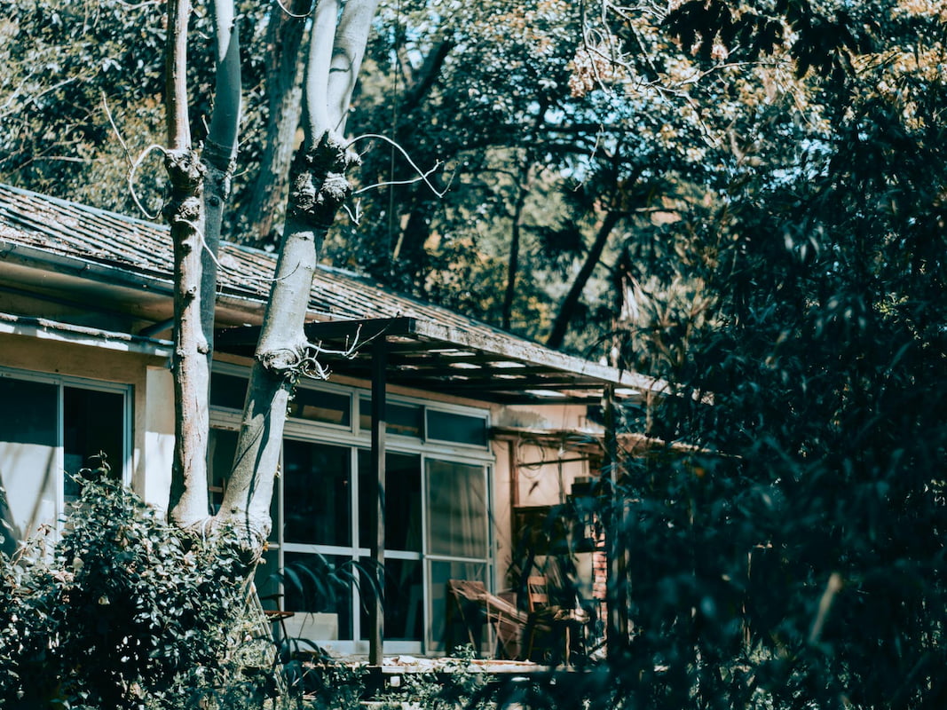
<instances>
[{"instance_id":1,"label":"dark upright post supporting the pergola in front of the windows","mask_svg":"<svg viewBox=\"0 0 947 710\"><path fill-rule=\"evenodd\" d=\"M375 531L370 541L373 572L384 569L384 432L385 432L385 370L387 369L387 342L384 335L376 338L371 347L371 490L365 494L374 502L371 506L369 529ZM384 591L384 577L379 578L380 592ZM368 605L368 665L381 667L384 660L384 606L382 596L376 595Z\"/></svg>"}]
</instances>

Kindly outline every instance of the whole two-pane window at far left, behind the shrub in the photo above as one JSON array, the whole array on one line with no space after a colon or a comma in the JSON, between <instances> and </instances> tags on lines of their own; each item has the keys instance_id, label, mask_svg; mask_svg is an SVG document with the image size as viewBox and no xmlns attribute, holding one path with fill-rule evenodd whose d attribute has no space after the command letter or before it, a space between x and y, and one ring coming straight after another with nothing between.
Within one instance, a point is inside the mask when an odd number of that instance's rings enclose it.
<instances>
[{"instance_id":1,"label":"whole two-pane window at far left, behind the shrub","mask_svg":"<svg viewBox=\"0 0 947 710\"><path fill-rule=\"evenodd\" d=\"M81 492L80 469L106 454L116 478L125 477L131 426L130 387L57 376L0 372L0 531L4 549L35 533L58 528Z\"/></svg>"}]
</instances>

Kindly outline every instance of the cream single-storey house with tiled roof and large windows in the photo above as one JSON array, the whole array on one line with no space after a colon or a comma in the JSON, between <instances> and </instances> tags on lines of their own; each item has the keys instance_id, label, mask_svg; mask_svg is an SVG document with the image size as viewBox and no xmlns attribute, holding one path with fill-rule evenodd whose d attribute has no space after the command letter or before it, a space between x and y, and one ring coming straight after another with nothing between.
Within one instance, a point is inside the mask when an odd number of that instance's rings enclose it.
<instances>
[{"instance_id":1,"label":"cream single-storey house with tiled roof and large windows","mask_svg":"<svg viewBox=\"0 0 947 710\"><path fill-rule=\"evenodd\" d=\"M40 528L58 534L79 492L73 475L99 451L167 506L171 260L164 225L0 186L7 549ZM226 485L275 257L224 244L220 262L212 499ZM590 407L604 393L634 401L664 387L330 267L315 275L307 332L329 351L374 340L348 359L327 355L331 379L298 388L258 583L279 592L282 582L290 633L341 653L368 648L361 588L343 573L371 554L360 492L373 391L386 420L384 651L437 654L448 580L507 587L524 524L599 474L603 432ZM600 595L591 572L580 576L586 595ZM307 591L316 578L330 582L319 594Z\"/></svg>"}]
</instances>

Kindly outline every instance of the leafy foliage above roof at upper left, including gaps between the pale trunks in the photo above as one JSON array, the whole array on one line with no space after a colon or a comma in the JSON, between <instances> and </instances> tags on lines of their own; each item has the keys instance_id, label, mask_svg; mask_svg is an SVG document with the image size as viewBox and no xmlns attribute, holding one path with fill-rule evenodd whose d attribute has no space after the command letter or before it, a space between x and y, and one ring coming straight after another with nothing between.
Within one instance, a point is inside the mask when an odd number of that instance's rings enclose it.
<instances>
[{"instance_id":1,"label":"leafy foliage above roof at upper left, including gaps between the pale trunks","mask_svg":"<svg viewBox=\"0 0 947 710\"><path fill-rule=\"evenodd\" d=\"M238 3L240 6L240 3ZM0 180L85 204L140 215L127 185L134 160L165 132L165 16L162 6L102 0L5 2L0 19ZM248 164L259 161L265 116L259 91L265 9L243 3ZM277 6L278 10L278 6ZM195 35L212 34L198 9ZM207 130L213 50L194 43L188 62L195 140ZM165 190L158 153L135 173L142 201L157 213ZM241 174L238 191L248 177Z\"/></svg>"}]
</instances>

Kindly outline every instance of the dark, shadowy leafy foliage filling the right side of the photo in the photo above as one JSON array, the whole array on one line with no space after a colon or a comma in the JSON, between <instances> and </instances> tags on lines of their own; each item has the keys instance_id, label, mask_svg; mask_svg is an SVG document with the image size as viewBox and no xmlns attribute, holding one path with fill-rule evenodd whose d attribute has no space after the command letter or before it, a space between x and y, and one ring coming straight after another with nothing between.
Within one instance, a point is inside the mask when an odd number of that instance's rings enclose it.
<instances>
[{"instance_id":1,"label":"dark, shadowy leafy foliage filling the right side of the photo","mask_svg":"<svg viewBox=\"0 0 947 710\"><path fill-rule=\"evenodd\" d=\"M702 451L625 463L630 706L947 698L947 47L870 12L877 54L808 78L831 120L734 161L642 270L626 362L713 405L633 423Z\"/></svg>"}]
</instances>

